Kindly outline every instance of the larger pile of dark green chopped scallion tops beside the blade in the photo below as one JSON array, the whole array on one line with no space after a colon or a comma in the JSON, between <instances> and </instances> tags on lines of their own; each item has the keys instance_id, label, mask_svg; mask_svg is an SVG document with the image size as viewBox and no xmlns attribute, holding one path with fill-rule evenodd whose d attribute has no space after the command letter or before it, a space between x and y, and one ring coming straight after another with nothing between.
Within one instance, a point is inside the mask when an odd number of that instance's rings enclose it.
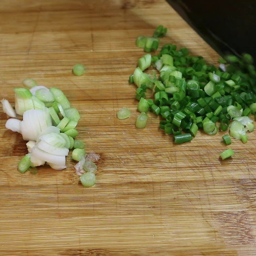
<instances>
[{"instance_id":1,"label":"larger pile of dark green chopped scallion tops beside the blade","mask_svg":"<svg viewBox=\"0 0 256 256\"><path fill-rule=\"evenodd\" d=\"M165 33L166 28L159 26L153 37L138 36L136 45L145 52L157 50L157 37ZM198 129L210 135L229 129L232 137L247 142L246 132L254 130L249 116L256 113L252 56L227 56L219 62L219 67L208 65L202 56L192 56L187 48L177 49L174 44L165 44L158 54L142 56L129 78L138 87L135 98L141 114L136 127L146 126L151 111L161 116L160 128L173 134L178 144L191 141ZM150 66L158 70L159 78L144 72ZM154 92L153 99L146 99L147 89ZM228 145L227 136L223 140Z\"/></svg>"}]
</instances>

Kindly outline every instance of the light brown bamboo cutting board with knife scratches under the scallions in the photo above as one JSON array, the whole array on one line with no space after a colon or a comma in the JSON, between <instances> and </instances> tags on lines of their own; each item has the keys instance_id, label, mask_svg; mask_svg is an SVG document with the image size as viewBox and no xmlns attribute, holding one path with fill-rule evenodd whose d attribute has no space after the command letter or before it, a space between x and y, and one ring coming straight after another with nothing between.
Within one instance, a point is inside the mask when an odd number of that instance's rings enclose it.
<instances>
[{"instance_id":1,"label":"light brown bamboo cutting board with knife scratches under the scallions","mask_svg":"<svg viewBox=\"0 0 256 256\"><path fill-rule=\"evenodd\" d=\"M68 156L64 171L17 171L21 135L0 123L0 255L256 255L255 132L232 141L199 132L183 145L158 128L135 129L135 45L162 24L174 43L216 63L218 55L163 0L2 0L1 98L26 77L63 90L79 109L79 139L101 155L97 183L83 188ZM86 74L72 75L83 63ZM126 120L116 112L132 110Z\"/></svg>"}]
</instances>

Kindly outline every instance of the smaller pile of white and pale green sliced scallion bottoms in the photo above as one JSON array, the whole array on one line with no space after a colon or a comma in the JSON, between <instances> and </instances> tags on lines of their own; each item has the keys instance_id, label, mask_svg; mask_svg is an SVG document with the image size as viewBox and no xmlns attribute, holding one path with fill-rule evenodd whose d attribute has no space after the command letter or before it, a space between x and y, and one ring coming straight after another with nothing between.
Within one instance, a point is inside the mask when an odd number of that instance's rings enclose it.
<instances>
[{"instance_id":1,"label":"smaller pile of white and pale green sliced scallion bottoms","mask_svg":"<svg viewBox=\"0 0 256 256\"><path fill-rule=\"evenodd\" d=\"M76 66L75 66L76 67ZM81 65L73 69L80 76L84 72ZM1 100L7 116L5 127L22 134L27 140L28 154L19 162L18 170L22 173L36 166L49 164L52 169L66 168L66 156L73 149L72 158L78 163L76 173L80 176L84 187L95 184L97 166L92 161L98 161L99 155L85 154L82 140L75 139L78 135L76 126L80 119L76 108L71 107L65 94L58 88L37 86L36 81L27 78L23 85L30 88L15 88L15 110L8 100ZM18 115L22 117L19 120ZM78 167L77 167L78 166ZM33 171L35 172L35 171Z\"/></svg>"}]
</instances>

